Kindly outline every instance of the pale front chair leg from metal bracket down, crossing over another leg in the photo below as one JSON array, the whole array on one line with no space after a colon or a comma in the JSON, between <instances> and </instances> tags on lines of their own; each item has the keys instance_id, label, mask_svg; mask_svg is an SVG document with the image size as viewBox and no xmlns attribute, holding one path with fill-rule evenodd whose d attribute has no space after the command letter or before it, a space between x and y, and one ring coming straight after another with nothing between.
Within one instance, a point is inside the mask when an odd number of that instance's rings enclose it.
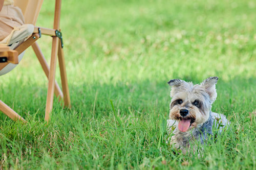
<instances>
[{"instance_id":1,"label":"pale front chair leg from metal bracket down, crossing over another leg","mask_svg":"<svg viewBox=\"0 0 256 170\"><path fill-rule=\"evenodd\" d=\"M50 113L52 111L52 105L53 105L57 53L58 53L58 37L53 37L51 64L50 64L50 72L49 72L49 84L48 84L48 92L47 92L47 100L46 100L46 114L45 114L45 120L47 122L49 121L49 117L50 117Z\"/></svg>"}]
</instances>

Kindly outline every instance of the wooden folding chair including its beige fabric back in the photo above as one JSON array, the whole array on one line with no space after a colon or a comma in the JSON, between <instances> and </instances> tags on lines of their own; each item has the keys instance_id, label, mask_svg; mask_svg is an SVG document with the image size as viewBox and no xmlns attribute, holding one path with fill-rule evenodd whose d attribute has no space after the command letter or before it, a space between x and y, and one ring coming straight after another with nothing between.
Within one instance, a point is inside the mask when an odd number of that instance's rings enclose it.
<instances>
[{"instance_id":1,"label":"wooden folding chair including its beige fabric back","mask_svg":"<svg viewBox=\"0 0 256 170\"><path fill-rule=\"evenodd\" d=\"M39 11L41 9L42 2L43 0L22 0L22 1L14 0L14 5L22 9L22 12L25 18L25 23L31 23L35 26ZM45 120L47 122L49 121L50 113L53 107L54 93L57 96L57 98L59 98L59 100L64 101L64 105L66 107L71 106L66 66L65 66L65 58L64 58L64 53L62 49L63 48L62 34L59 29L60 7L61 7L61 0L56 0L53 29L35 27L33 34L26 41L24 41L18 47L16 47L14 50L9 50L8 46L0 45L0 70L4 68L8 63L17 64L18 55L24 52L29 46L32 46L42 66L42 69L45 71L45 74L49 80L47 100L46 100L46 110L45 110ZM41 35L49 35L53 39L50 68L36 42L36 40L39 39ZM61 77L61 85L62 85L63 93L59 88L57 82L55 81L57 56L59 61L60 77ZM24 120L22 117L20 117L15 111L13 111L9 106L7 106L1 100L0 100L0 110L13 120L17 120L17 119Z\"/></svg>"}]
</instances>

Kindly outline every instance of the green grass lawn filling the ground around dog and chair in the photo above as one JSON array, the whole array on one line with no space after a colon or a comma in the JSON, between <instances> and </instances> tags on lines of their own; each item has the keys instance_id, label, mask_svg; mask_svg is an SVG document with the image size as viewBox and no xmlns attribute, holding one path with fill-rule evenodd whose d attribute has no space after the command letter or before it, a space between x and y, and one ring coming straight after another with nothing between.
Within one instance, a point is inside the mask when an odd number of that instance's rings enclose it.
<instances>
[{"instance_id":1,"label":"green grass lawn filling the ground around dog and chair","mask_svg":"<svg viewBox=\"0 0 256 170\"><path fill-rule=\"evenodd\" d=\"M1 168L256 169L255 9L247 0L62 1L72 109L55 99L44 122L47 79L27 50L0 78L0 99L28 121L0 114ZM45 1L37 25L52 27L53 10ZM49 60L51 38L38 42ZM231 128L202 157L175 154L166 82L209 76L219 77L212 111Z\"/></svg>"}]
</instances>

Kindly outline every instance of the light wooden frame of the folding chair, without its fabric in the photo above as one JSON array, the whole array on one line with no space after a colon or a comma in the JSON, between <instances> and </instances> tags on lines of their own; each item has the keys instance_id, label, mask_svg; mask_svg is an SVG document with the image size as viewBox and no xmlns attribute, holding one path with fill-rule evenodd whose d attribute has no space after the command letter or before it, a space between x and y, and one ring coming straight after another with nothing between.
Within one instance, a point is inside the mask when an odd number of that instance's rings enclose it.
<instances>
[{"instance_id":1,"label":"light wooden frame of the folding chair, without its fabric","mask_svg":"<svg viewBox=\"0 0 256 170\"><path fill-rule=\"evenodd\" d=\"M5 67L9 63L17 64L17 57L19 54L24 52L29 46L32 46L33 51L36 54L39 63L42 66L49 82L48 82L48 92L47 92L47 100L46 100L46 110L45 110L45 120L48 122L50 118L50 113L53 107L53 98L54 93L59 98L59 101L64 101L64 106L71 107L70 102L70 94L68 88L68 79L67 79L67 72L66 72L66 65L65 65L65 58L63 53L63 43L62 43L62 34L59 29L59 22L60 22L60 9L61 9L61 0L55 1L55 13L54 13L54 25L53 29L46 29L46 28L34 28L33 34L22 44L20 44L14 51L11 50L3 50L0 47L0 57L6 57L8 60L5 63L1 63L0 70ZM39 13L39 11L38 11ZM34 22L35 23L35 22ZM52 37L52 52L51 52L51 61L50 67L48 66L44 55L42 54L39 45L37 44L36 40L41 37L41 35L49 35ZM7 50L7 51L6 51ZM61 77L61 85L62 90L58 86L57 82L55 81L55 72L56 72L56 64L57 64L57 56L60 68L60 77ZM4 102L0 100L0 111L5 113L13 120L26 120L17 114L14 110L12 110L9 106L7 106Z\"/></svg>"}]
</instances>

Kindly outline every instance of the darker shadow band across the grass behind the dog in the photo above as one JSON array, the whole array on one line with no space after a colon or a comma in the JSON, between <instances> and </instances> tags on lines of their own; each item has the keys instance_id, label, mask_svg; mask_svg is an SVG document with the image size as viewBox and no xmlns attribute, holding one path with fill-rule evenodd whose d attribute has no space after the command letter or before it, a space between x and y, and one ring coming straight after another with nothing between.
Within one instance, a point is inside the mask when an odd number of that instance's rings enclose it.
<instances>
[{"instance_id":1,"label":"darker shadow band across the grass behind the dog","mask_svg":"<svg viewBox=\"0 0 256 170\"><path fill-rule=\"evenodd\" d=\"M192 79L190 77L180 78L185 81L193 80L200 83L203 80ZM168 80L167 80L168 81ZM144 80L138 82L118 82L116 84L82 84L74 86L70 83L70 95L72 110L83 113L84 116L102 117L109 115L112 111L110 100L120 114L131 110L136 110L138 114L158 113L168 116L169 90L166 80L154 82ZM229 115L232 111L253 110L255 106L253 98L256 94L254 90L256 78L237 77L230 81L223 81L220 77L217 84L217 101L213 105L213 110L224 112ZM16 88L19 87L19 88ZM47 88L37 84L25 84L16 81L8 88L1 88L1 100L13 108L16 112L26 118L28 115L37 114L36 117L44 119ZM57 99L54 99L53 116L55 111L61 110ZM66 109L68 114L68 109ZM1 119L5 119L3 114Z\"/></svg>"}]
</instances>

